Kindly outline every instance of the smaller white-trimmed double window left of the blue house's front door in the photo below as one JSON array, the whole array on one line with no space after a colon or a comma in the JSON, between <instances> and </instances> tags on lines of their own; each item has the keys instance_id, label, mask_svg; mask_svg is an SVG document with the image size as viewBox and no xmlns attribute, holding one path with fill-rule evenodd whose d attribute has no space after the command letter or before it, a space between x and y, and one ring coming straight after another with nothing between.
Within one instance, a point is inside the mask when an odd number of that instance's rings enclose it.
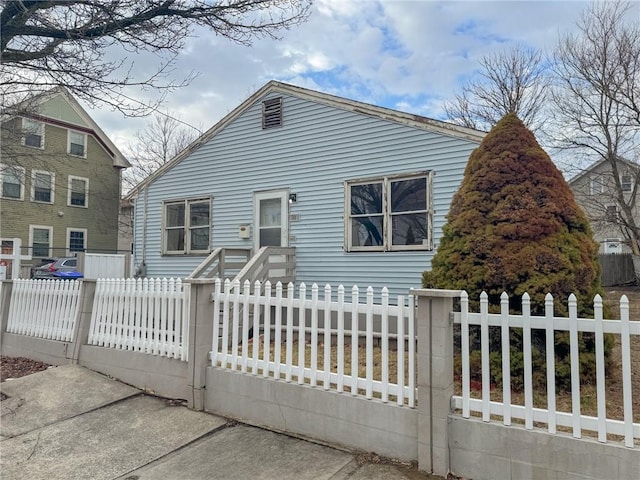
<instances>
[{"instance_id":1,"label":"smaller white-trimmed double window left of the blue house's front door","mask_svg":"<svg viewBox=\"0 0 640 480\"><path fill-rule=\"evenodd\" d=\"M163 214L163 254L209 252L210 198L164 202Z\"/></svg>"}]
</instances>

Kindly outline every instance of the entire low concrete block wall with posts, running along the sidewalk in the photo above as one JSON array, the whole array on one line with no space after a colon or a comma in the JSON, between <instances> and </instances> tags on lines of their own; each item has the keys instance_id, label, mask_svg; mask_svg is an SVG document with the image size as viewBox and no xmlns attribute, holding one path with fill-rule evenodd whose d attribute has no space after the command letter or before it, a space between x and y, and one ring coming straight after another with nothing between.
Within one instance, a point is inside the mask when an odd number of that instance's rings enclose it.
<instances>
[{"instance_id":1,"label":"entire low concrete block wall with posts, running along the sidewalk","mask_svg":"<svg viewBox=\"0 0 640 480\"><path fill-rule=\"evenodd\" d=\"M212 367L213 284L193 280L188 362L87 344L95 283L85 280L73 342L6 332L12 282L0 289L0 351L54 365L78 363L190 408L350 449L374 451L446 476L474 479L636 479L640 449L505 427L451 413L455 291L416 290L418 407Z\"/></svg>"}]
</instances>

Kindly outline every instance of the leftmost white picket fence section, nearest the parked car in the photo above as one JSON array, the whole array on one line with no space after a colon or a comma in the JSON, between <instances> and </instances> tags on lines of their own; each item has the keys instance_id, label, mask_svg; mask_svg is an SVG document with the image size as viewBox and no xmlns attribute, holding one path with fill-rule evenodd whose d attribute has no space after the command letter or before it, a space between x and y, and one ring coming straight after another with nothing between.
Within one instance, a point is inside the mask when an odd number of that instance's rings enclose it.
<instances>
[{"instance_id":1,"label":"leftmost white picket fence section, nearest the parked car","mask_svg":"<svg viewBox=\"0 0 640 480\"><path fill-rule=\"evenodd\" d=\"M72 342L81 288L75 280L14 280L7 332Z\"/></svg>"}]
</instances>

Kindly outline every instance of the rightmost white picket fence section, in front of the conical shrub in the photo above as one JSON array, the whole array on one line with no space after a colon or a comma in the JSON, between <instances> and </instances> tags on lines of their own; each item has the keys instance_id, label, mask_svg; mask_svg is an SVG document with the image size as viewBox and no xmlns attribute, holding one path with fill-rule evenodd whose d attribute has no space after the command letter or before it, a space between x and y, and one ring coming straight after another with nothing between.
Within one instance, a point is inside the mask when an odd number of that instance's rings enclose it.
<instances>
[{"instance_id":1,"label":"rightmost white picket fence section, in front of the conical shrub","mask_svg":"<svg viewBox=\"0 0 640 480\"><path fill-rule=\"evenodd\" d=\"M480 313L469 312L469 299L466 292L461 298L461 312L455 315L455 322L461 325L462 345L462 396L454 397L455 407L462 410L462 416L469 418L471 412L482 414L489 422L491 416L502 417L504 425L510 425L512 419L524 421L528 430L534 428L534 422L546 424L549 433L556 433L558 426L568 427L575 438L581 438L583 430L597 432L600 442L607 441L607 435L624 437L627 447L634 446L634 438L640 438L640 423L633 422L632 382L631 382L631 336L640 335L640 322L629 321L629 301L626 296L620 299L620 320L604 320L602 298L594 299L594 318L578 318L575 295L569 297L569 318L554 317L553 297L545 299L545 315L530 314L530 298L522 296L522 315L509 314L509 298L506 293L501 297L501 313L488 313L486 293L480 297ZM480 325L482 358L481 398L471 398L469 369L469 325ZM499 327L502 339L502 401L491 400L490 363L489 363L489 327ZM524 356L524 405L511 403L511 374L509 355L509 329L522 329ZM547 375L547 408L535 408L532 388L532 347L531 332L545 331ZM556 379L554 336L557 331L569 332L571 360L571 412L558 412L556 408ZM597 417L580 413L580 372L578 352L578 332L595 333L596 373L597 373ZM622 365L623 420L607 418L606 412L606 375L604 358L604 334L620 336Z\"/></svg>"}]
</instances>

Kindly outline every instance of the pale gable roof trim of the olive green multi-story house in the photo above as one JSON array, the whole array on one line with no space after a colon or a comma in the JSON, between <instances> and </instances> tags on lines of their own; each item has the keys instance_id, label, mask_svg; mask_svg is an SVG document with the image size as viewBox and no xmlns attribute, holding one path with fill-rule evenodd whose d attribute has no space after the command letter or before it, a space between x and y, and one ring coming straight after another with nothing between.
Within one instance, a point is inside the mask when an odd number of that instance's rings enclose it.
<instances>
[{"instance_id":1,"label":"pale gable roof trim of the olive green multi-story house","mask_svg":"<svg viewBox=\"0 0 640 480\"><path fill-rule=\"evenodd\" d=\"M68 121L63 118L54 118L52 116L43 114L42 112L37 112L37 108L39 106L44 105L45 103L55 99L55 97L62 97L66 103L71 107L73 112L82 120L84 125L79 125L77 123ZM28 108L34 109L33 114L24 114L24 112L20 112L21 105L28 105ZM113 166L118 168L127 168L130 167L131 164L127 160L127 158L122 154L122 152L115 146L115 144L109 139L109 137L104 133L104 131L98 126L98 124L91 118L91 116L87 113L87 111L82 108L80 103L69 93L69 91L64 87L54 87L46 92L42 92L38 95L35 95L31 98L24 100L16 106L16 114L6 114L3 112L3 117L33 117L36 120L41 120L46 123L51 123L53 125L61 126L64 128L71 128L74 130L82 131L84 133L89 133L94 136L94 138L98 141L98 143L105 149L105 151L113 158ZM3 121L5 118L2 119Z\"/></svg>"}]
</instances>

